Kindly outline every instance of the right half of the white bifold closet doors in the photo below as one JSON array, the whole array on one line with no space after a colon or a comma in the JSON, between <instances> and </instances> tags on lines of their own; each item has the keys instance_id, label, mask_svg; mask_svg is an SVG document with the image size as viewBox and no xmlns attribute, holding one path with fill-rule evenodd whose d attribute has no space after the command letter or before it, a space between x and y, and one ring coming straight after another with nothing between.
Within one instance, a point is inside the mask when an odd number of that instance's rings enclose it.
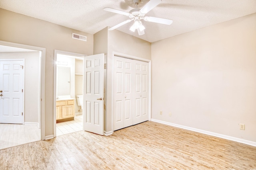
<instances>
[{"instance_id":1,"label":"right half of the white bifold closet doors","mask_svg":"<svg viewBox=\"0 0 256 170\"><path fill-rule=\"evenodd\" d=\"M134 115L133 124L148 120L148 63L135 62Z\"/></svg>"}]
</instances>

